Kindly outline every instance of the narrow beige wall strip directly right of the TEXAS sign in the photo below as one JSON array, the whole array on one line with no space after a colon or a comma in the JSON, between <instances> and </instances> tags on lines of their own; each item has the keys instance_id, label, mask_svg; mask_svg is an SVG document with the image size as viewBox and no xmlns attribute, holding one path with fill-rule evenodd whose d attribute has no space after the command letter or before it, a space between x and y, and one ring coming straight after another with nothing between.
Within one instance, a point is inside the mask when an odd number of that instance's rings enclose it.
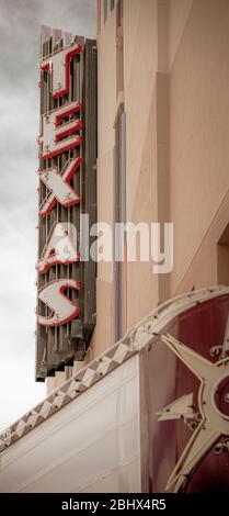
<instances>
[{"instance_id":1,"label":"narrow beige wall strip directly right of the TEXAS sign","mask_svg":"<svg viewBox=\"0 0 229 516\"><path fill-rule=\"evenodd\" d=\"M116 114L116 16L98 36L98 222L113 223L113 148ZM112 262L98 263L96 327L93 356L112 344Z\"/></svg>"}]
</instances>

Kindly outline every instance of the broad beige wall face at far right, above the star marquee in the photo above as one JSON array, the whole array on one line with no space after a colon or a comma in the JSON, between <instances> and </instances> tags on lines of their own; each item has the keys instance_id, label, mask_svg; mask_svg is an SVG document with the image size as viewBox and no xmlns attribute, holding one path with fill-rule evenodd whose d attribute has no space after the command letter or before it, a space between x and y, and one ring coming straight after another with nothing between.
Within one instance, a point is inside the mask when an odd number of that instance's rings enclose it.
<instances>
[{"instance_id":1,"label":"broad beige wall face at far right, above the star marquee","mask_svg":"<svg viewBox=\"0 0 229 516\"><path fill-rule=\"evenodd\" d=\"M193 285L216 280L213 257L220 233L210 243L209 228L221 220L219 209L229 188L228 20L227 0L194 0L170 71L172 295L186 289L185 276L197 251ZM226 225L228 218L229 211Z\"/></svg>"}]
</instances>

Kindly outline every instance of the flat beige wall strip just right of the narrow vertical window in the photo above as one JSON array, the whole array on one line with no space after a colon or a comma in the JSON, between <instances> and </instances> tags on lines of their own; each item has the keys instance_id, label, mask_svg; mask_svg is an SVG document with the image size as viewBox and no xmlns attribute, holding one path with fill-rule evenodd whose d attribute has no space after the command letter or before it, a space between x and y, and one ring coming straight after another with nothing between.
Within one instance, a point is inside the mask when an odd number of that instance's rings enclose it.
<instances>
[{"instance_id":1,"label":"flat beige wall strip just right of the narrow vertical window","mask_svg":"<svg viewBox=\"0 0 229 516\"><path fill-rule=\"evenodd\" d=\"M124 2L127 221L157 220L157 2ZM127 328L158 303L152 262L127 263Z\"/></svg>"}]
</instances>

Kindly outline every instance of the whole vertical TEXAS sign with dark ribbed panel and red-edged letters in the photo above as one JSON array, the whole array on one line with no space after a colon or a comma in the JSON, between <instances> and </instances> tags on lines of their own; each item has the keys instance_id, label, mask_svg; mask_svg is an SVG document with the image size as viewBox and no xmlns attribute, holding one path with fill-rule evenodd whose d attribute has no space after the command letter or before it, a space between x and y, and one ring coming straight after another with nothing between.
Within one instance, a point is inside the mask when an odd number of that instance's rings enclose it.
<instances>
[{"instance_id":1,"label":"whole vertical TEXAS sign with dark ribbed panel and red-edged letters","mask_svg":"<svg viewBox=\"0 0 229 516\"><path fill-rule=\"evenodd\" d=\"M36 379L83 360L95 324L95 265L81 261L81 216L96 218L96 47L41 37Z\"/></svg>"}]
</instances>

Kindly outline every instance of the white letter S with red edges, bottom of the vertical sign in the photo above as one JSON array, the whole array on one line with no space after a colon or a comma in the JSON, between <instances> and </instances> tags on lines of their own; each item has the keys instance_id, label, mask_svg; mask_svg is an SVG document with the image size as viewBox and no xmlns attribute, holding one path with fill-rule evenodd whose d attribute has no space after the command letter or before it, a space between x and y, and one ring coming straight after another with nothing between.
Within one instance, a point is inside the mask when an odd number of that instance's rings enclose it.
<instances>
[{"instance_id":1,"label":"white letter S with red edges, bottom of the vertical sign","mask_svg":"<svg viewBox=\"0 0 229 516\"><path fill-rule=\"evenodd\" d=\"M47 283L38 292L38 300L50 310L50 315L37 315L37 323L42 326L61 326L80 313L80 307L65 294L66 289L80 290L79 282L70 279L55 280Z\"/></svg>"}]
</instances>

